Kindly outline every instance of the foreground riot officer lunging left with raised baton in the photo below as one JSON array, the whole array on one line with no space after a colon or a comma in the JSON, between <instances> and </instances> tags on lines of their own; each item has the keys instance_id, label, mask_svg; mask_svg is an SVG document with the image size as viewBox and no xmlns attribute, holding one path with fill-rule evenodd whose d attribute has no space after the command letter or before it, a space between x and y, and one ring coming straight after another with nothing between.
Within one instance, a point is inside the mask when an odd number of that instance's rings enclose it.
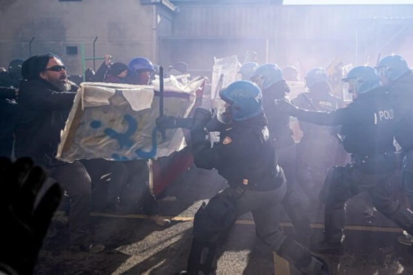
<instances>
[{"instance_id":1,"label":"foreground riot officer lunging left with raised baton","mask_svg":"<svg viewBox=\"0 0 413 275\"><path fill-rule=\"evenodd\" d=\"M263 113L262 92L249 81L236 81L220 92L225 101L221 115L220 141L212 147L206 125L211 112L198 108L192 128L192 154L197 167L216 168L229 187L215 195L197 211L187 271L182 274L207 275L220 234L237 217L252 212L260 238L303 274L328 274L327 266L299 243L282 233L280 203L286 186L282 168L277 165L267 120ZM157 125L163 127L158 119Z\"/></svg>"}]
</instances>

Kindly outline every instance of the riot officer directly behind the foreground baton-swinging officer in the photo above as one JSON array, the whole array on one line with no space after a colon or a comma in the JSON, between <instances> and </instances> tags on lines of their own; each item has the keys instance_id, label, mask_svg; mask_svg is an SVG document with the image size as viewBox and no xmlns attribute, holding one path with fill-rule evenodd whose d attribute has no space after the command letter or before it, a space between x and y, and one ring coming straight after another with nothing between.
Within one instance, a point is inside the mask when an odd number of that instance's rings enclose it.
<instances>
[{"instance_id":1,"label":"riot officer directly behind the foreground baton-swinging officer","mask_svg":"<svg viewBox=\"0 0 413 275\"><path fill-rule=\"evenodd\" d=\"M260 66L255 75L263 90L263 110L268 119L268 129L277 151L278 163L287 180L287 193L282 205L294 225L297 238L303 244L308 244L311 237L310 219L306 211L305 195L296 178L296 145L290 128L290 116L275 104L275 100L286 96L289 87L281 69L275 64Z\"/></svg>"}]
</instances>

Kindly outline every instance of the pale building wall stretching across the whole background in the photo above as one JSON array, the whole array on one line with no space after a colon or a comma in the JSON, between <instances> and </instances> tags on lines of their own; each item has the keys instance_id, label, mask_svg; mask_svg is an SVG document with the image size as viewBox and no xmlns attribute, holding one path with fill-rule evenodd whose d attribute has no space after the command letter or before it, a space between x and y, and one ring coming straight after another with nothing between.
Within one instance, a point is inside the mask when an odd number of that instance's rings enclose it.
<instances>
[{"instance_id":1,"label":"pale building wall stretching across the whole background","mask_svg":"<svg viewBox=\"0 0 413 275\"><path fill-rule=\"evenodd\" d=\"M335 57L363 64L377 55L405 55L413 64L413 5L280 6L183 4L175 13L149 0L0 0L0 67L13 58L53 52L69 73L82 73L85 55L111 54L128 63L147 56L168 67L185 61L210 76L213 58L258 53L258 62L294 65L304 74ZM204 1L203 3L207 3ZM77 46L77 55L66 55ZM96 68L101 61L96 61ZM93 67L93 61L87 61Z\"/></svg>"}]
</instances>

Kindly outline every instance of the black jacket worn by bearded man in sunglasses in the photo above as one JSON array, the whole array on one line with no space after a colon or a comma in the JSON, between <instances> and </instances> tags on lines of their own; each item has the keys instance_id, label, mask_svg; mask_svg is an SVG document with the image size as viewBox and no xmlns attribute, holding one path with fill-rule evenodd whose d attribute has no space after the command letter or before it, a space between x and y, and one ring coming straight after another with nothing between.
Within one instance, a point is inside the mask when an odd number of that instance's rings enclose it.
<instances>
[{"instance_id":1,"label":"black jacket worn by bearded man in sunglasses","mask_svg":"<svg viewBox=\"0 0 413 275\"><path fill-rule=\"evenodd\" d=\"M76 91L77 86L72 86ZM20 84L16 114L16 157L29 156L45 166L56 165L60 131L72 108L75 92L61 92L45 80L26 80Z\"/></svg>"}]
</instances>

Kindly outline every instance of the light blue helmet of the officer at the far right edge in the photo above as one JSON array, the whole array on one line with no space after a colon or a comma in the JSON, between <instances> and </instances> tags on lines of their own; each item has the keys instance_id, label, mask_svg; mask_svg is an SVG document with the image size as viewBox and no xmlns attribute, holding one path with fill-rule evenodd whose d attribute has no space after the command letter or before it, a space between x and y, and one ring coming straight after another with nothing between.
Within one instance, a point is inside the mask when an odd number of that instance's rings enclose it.
<instances>
[{"instance_id":1,"label":"light blue helmet of the officer at the far right edge","mask_svg":"<svg viewBox=\"0 0 413 275\"><path fill-rule=\"evenodd\" d=\"M385 76L389 81L395 81L410 72L410 69L401 55L388 55L378 62L377 72Z\"/></svg>"}]
</instances>

